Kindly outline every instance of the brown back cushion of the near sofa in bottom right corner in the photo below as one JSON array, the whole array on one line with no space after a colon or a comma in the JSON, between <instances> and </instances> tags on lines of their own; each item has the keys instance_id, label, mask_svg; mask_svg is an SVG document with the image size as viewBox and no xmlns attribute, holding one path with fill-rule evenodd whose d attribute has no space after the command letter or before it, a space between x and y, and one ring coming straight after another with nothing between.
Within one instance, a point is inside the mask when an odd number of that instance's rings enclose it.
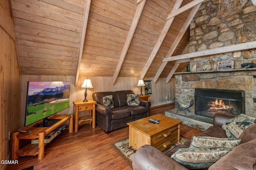
<instances>
[{"instance_id":1,"label":"brown back cushion of the near sofa in bottom right corner","mask_svg":"<svg viewBox=\"0 0 256 170\"><path fill-rule=\"evenodd\" d=\"M255 170L256 139L240 144L210 166L209 170Z\"/></svg>"}]
</instances>

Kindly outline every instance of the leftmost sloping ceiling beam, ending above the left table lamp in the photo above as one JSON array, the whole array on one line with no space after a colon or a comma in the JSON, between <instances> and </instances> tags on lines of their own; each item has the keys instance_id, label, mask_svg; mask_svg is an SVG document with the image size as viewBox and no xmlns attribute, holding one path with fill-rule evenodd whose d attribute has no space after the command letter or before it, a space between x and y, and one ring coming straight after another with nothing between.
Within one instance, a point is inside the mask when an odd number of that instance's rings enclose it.
<instances>
[{"instance_id":1,"label":"leftmost sloping ceiling beam, ending above the left table lamp","mask_svg":"<svg viewBox=\"0 0 256 170\"><path fill-rule=\"evenodd\" d=\"M84 6L84 19L83 19L83 25L82 25L82 32L81 32L80 43L79 43L79 48L78 48L76 75L75 75L75 77L76 77L75 87L77 86L77 83L78 83L78 76L79 76L80 63L81 63L81 58L82 58L82 53L83 53L83 48L84 48L86 27L87 27L89 12L90 12L90 4L91 4L91 0L86 0L86 4Z\"/></svg>"}]
</instances>

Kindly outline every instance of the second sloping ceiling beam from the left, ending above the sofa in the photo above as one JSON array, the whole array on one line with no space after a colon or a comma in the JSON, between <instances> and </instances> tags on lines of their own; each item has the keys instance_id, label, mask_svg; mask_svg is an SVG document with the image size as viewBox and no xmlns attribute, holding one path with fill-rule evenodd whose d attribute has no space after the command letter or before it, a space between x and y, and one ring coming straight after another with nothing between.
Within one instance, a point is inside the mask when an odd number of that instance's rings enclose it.
<instances>
[{"instance_id":1,"label":"second sloping ceiling beam from the left, ending above the sofa","mask_svg":"<svg viewBox=\"0 0 256 170\"><path fill-rule=\"evenodd\" d=\"M116 83L116 79L117 79L118 74L119 74L119 72L121 70L121 67L122 67L122 64L124 62L124 58L126 56L126 53L127 53L128 49L129 49L130 43L132 41L132 37L133 37L134 32L136 30L137 24L139 22L139 19L140 19L142 10L144 8L145 2L146 2L146 0L138 0L139 4L138 4L136 12L134 14L134 18L132 20L132 24L130 26L130 30L128 32L127 38L126 38L125 43L124 43L124 47L122 49L120 58L119 58L118 63L116 65L116 70L115 70L114 75L113 75L113 85Z\"/></svg>"}]
</instances>

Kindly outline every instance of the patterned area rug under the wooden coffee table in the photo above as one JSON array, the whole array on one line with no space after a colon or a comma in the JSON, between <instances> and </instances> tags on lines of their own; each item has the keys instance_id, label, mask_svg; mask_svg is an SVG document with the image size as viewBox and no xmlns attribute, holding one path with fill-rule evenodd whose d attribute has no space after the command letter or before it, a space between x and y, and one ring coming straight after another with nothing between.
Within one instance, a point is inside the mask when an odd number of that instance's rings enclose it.
<instances>
[{"instance_id":1,"label":"patterned area rug under the wooden coffee table","mask_svg":"<svg viewBox=\"0 0 256 170\"><path fill-rule=\"evenodd\" d=\"M180 136L180 142L176 142L175 144L173 144L172 146L170 146L166 150L163 150L162 152L166 153L169 150L171 150L172 148L174 148L175 146L177 146L179 144L184 144L186 141L188 141L187 138L184 138L184 137ZM129 147L129 138L126 137L126 138L123 138L123 139L118 140L116 142L113 142L113 143L110 144L110 146L112 146L112 148L114 148L114 150L116 150L116 152L132 168L132 160L133 160L133 157L134 157L134 154L135 154L136 150L132 147Z\"/></svg>"}]
</instances>

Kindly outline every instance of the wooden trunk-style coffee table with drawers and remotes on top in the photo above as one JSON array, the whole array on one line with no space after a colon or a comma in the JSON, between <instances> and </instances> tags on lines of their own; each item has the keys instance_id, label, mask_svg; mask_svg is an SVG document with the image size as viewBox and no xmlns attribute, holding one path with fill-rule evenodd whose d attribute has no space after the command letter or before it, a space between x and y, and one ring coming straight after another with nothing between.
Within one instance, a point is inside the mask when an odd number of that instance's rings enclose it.
<instances>
[{"instance_id":1,"label":"wooden trunk-style coffee table with drawers and remotes on top","mask_svg":"<svg viewBox=\"0 0 256 170\"><path fill-rule=\"evenodd\" d=\"M149 119L158 119L160 123L150 123ZM153 115L129 122L129 146L138 150L144 144L150 144L160 151L176 142L180 142L180 123L164 115Z\"/></svg>"}]
</instances>

